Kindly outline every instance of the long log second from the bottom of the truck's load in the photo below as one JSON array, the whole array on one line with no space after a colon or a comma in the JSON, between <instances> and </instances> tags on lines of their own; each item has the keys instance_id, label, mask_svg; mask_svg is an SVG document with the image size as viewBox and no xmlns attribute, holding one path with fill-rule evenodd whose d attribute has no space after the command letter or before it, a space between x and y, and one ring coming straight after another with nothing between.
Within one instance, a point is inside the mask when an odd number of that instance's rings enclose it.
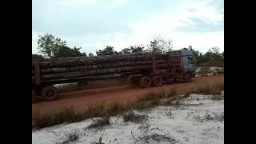
<instances>
[{"instance_id":1,"label":"long log second from the bottom of the truck's load","mask_svg":"<svg viewBox=\"0 0 256 144\"><path fill-rule=\"evenodd\" d=\"M158 64L165 64L165 60L156 61ZM106 63L101 65L85 65L85 66L72 66L72 67L57 67L57 68L49 68L42 69L42 74L55 74L55 73L64 73L64 72L72 72L72 71L81 71L81 70L95 70L95 69L103 69L103 68L114 68L114 67L127 67L127 66L143 66L150 65L152 61L139 61L139 62L115 62L115 63ZM34 74L34 70L32 70L32 74Z\"/></svg>"}]
</instances>

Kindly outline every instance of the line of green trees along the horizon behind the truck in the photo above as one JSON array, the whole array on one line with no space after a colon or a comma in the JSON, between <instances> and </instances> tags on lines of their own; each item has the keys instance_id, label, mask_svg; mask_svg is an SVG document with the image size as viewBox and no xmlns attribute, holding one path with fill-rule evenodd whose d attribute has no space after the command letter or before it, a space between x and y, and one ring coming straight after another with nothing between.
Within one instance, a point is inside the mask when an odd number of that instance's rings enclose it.
<instances>
[{"instance_id":1,"label":"line of green trees along the horizon behind the truck","mask_svg":"<svg viewBox=\"0 0 256 144\"><path fill-rule=\"evenodd\" d=\"M173 50L173 44L170 39L154 38L148 45L129 46L121 51L114 50L113 46L106 46L102 50L96 50L96 55L81 52L81 47L69 47L66 41L61 38L54 37L52 34L39 35L38 50L40 54L32 54L32 59L43 58L64 58L64 57L94 57L103 55L131 54L145 51L158 51L163 54ZM205 54L192 48L192 46L184 47L181 50L191 50L197 60L197 66L224 66L224 51L219 52L218 47L212 47Z\"/></svg>"}]
</instances>

